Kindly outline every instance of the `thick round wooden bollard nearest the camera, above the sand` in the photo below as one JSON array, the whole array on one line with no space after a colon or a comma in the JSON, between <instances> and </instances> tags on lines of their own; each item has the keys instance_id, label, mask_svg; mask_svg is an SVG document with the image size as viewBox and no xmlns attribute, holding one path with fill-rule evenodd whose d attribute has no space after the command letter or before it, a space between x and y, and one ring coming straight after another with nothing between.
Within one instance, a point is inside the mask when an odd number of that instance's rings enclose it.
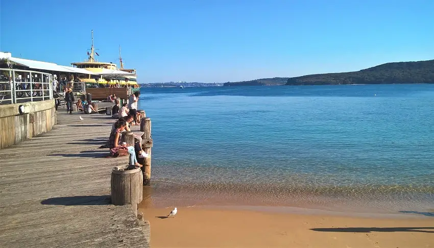
<instances>
[{"instance_id":1,"label":"thick round wooden bollard nearest the camera, above the sand","mask_svg":"<svg viewBox=\"0 0 434 248\"><path fill-rule=\"evenodd\" d=\"M126 169L127 167L116 166L111 171L111 203L116 206L137 206L143 198L143 175L140 168Z\"/></svg>"}]
</instances>

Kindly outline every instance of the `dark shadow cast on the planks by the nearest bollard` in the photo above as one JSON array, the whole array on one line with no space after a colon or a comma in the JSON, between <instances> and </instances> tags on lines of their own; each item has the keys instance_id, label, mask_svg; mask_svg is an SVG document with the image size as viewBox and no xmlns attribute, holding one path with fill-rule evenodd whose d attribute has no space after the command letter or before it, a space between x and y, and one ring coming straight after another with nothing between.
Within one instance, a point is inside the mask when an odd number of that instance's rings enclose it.
<instances>
[{"instance_id":1,"label":"dark shadow cast on the planks by the nearest bollard","mask_svg":"<svg viewBox=\"0 0 434 248\"><path fill-rule=\"evenodd\" d=\"M53 197L41 201L42 205L62 205L62 206L78 206L78 205L110 205L110 195L78 195L67 197Z\"/></svg>"}]
</instances>

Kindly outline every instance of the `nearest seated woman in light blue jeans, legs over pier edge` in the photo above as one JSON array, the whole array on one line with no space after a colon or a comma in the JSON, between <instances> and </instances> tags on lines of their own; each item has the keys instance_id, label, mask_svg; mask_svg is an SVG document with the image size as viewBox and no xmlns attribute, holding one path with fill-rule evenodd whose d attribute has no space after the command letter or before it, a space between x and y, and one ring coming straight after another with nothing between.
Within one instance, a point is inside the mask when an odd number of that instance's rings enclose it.
<instances>
[{"instance_id":1,"label":"nearest seated woman in light blue jeans, legs over pier edge","mask_svg":"<svg viewBox=\"0 0 434 248\"><path fill-rule=\"evenodd\" d=\"M115 129L111 131L109 138L110 155L114 156L120 149L127 150L130 154L129 167L142 167L142 165L137 162L136 154L134 152L134 146L132 146L132 144L122 145L120 143L120 133L125 130L126 126L127 122L124 120L117 120L115 122Z\"/></svg>"}]
</instances>

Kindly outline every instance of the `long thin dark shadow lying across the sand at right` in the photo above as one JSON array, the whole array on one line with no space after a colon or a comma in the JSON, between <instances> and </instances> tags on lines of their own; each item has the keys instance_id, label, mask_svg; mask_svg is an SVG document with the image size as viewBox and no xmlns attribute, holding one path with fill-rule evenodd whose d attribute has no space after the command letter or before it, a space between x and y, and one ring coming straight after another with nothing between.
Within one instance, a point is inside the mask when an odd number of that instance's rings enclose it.
<instances>
[{"instance_id":1,"label":"long thin dark shadow lying across the sand at right","mask_svg":"<svg viewBox=\"0 0 434 248\"><path fill-rule=\"evenodd\" d=\"M309 230L317 232L342 232L342 233L370 233L370 232L419 232L434 233L434 231L421 230L432 229L434 227L393 227L393 228L311 228Z\"/></svg>"}]
</instances>

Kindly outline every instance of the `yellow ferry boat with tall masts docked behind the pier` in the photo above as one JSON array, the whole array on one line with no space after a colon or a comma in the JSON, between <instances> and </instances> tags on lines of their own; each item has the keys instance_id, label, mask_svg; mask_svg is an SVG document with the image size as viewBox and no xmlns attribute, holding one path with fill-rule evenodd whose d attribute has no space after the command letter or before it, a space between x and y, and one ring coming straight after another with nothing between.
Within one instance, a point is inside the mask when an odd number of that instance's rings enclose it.
<instances>
[{"instance_id":1,"label":"yellow ferry boat with tall masts docked behind the pier","mask_svg":"<svg viewBox=\"0 0 434 248\"><path fill-rule=\"evenodd\" d=\"M119 46L119 60L120 69L113 62L99 62L95 60L95 55L100 56L93 46L93 30L92 32L92 45L90 47L90 53L87 52L87 60L84 62L71 63L74 67L86 69L91 71L93 75L88 75L87 78L80 78L83 83L93 85L117 85L118 87L131 86L132 90L139 88L137 84L137 73L135 69L124 69L122 57L120 57ZM98 86L97 86L98 87ZM133 90L133 91L136 91Z\"/></svg>"}]
</instances>

